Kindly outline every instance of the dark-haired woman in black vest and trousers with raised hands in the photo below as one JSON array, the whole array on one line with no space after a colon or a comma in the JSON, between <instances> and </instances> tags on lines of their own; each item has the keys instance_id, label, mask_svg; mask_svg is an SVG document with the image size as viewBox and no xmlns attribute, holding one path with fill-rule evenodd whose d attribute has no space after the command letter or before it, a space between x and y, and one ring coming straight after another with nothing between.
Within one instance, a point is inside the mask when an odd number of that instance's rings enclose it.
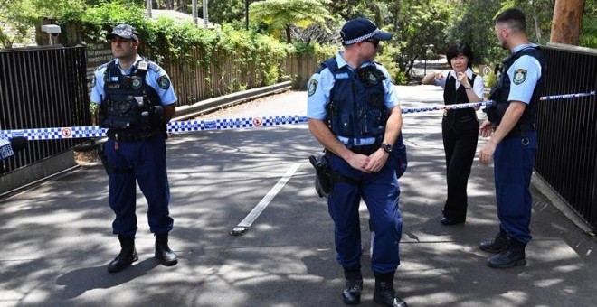
<instances>
[{"instance_id":1,"label":"dark-haired woman in black vest and trousers with raised hands","mask_svg":"<svg viewBox=\"0 0 597 307\"><path fill-rule=\"evenodd\" d=\"M446 105L478 102L483 99L483 78L473 73L473 54L467 43L451 46L446 58L452 70L444 76L433 72L422 79L422 84L443 88ZM446 154L448 198L443 207L443 225L462 224L467 219L467 184L470 167L477 151L479 107L444 110L441 121L443 149Z\"/></svg>"}]
</instances>

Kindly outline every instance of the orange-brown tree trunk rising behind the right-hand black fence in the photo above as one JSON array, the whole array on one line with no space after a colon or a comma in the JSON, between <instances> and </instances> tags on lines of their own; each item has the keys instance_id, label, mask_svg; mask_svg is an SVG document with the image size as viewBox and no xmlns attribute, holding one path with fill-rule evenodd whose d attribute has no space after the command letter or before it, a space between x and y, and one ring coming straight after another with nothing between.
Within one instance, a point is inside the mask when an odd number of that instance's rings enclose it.
<instances>
[{"instance_id":1,"label":"orange-brown tree trunk rising behind the right-hand black fence","mask_svg":"<svg viewBox=\"0 0 597 307\"><path fill-rule=\"evenodd\" d=\"M584 0L555 0L550 42L578 45L583 27Z\"/></svg>"}]
</instances>

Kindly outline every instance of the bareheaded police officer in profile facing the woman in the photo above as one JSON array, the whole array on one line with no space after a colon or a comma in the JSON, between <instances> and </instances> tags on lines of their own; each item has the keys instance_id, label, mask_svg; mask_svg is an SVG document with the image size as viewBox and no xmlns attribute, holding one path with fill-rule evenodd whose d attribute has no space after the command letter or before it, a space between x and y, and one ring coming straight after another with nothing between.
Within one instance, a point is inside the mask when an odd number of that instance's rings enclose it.
<instances>
[{"instance_id":1,"label":"bareheaded police officer in profile facing the woman","mask_svg":"<svg viewBox=\"0 0 597 307\"><path fill-rule=\"evenodd\" d=\"M494 105L486 109L488 120L480 135L491 138L479 151L479 160L493 159L498 204L499 232L480 248L497 255L488 265L506 268L526 265L525 247L531 240L529 224L533 200L529 185L535 164L537 132L535 114L545 85L542 51L526 38L525 14L507 9L495 19L500 45L511 51L504 60L498 85L492 89Z\"/></svg>"}]
</instances>

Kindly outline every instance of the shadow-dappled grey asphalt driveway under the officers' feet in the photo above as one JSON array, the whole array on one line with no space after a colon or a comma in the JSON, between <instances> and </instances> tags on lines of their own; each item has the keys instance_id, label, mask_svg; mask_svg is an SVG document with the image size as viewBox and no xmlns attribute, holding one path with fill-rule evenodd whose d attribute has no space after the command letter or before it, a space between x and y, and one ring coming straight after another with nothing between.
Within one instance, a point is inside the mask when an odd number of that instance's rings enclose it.
<instances>
[{"instance_id":1,"label":"shadow-dappled grey asphalt driveway under the officers' feet","mask_svg":"<svg viewBox=\"0 0 597 307\"><path fill-rule=\"evenodd\" d=\"M404 107L441 102L441 89L431 86L399 93ZM288 92L205 117L304 115L306 98ZM498 229L491 167L473 165L467 224L440 225L440 123L441 112L404 116L410 161L401 179L398 293L411 306L593 305L597 245L535 188L535 240L526 267L490 269L477 248ZM306 125L173 135L167 141L170 247L179 263L172 267L153 258L139 193L139 261L118 274L106 271L119 247L108 180L97 163L0 200L0 306L341 306L333 225L307 160L320 148ZM264 203L244 235L230 235ZM374 306L364 205L361 212L361 305Z\"/></svg>"}]
</instances>

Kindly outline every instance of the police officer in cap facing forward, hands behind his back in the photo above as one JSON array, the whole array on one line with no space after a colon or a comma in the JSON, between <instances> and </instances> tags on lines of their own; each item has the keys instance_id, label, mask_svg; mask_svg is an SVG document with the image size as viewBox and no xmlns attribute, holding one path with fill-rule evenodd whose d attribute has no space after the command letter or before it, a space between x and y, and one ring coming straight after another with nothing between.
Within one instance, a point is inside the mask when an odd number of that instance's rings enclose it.
<instances>
[{"instance_id":1,"label":"police officer in cap facing forward, hands behind his back","mask_svg":"<svg viewBox=\"0 0 597 307\"><path fill-rule=\"evenodd\" d=\"M118 272L137 261L137 185L147 199L147 219L156 236L156 259L176 265L168 247L173 228L166 175L166 124L175 114L177 100L166 71L137 54L139 34L119 24L108 34L115 59L95 72L91 101L100 105L100 126L108 128L103 149L109 174L109 206L116 214L113 233L120 254L108 265Z\"/></svg>"}]
</instances>

